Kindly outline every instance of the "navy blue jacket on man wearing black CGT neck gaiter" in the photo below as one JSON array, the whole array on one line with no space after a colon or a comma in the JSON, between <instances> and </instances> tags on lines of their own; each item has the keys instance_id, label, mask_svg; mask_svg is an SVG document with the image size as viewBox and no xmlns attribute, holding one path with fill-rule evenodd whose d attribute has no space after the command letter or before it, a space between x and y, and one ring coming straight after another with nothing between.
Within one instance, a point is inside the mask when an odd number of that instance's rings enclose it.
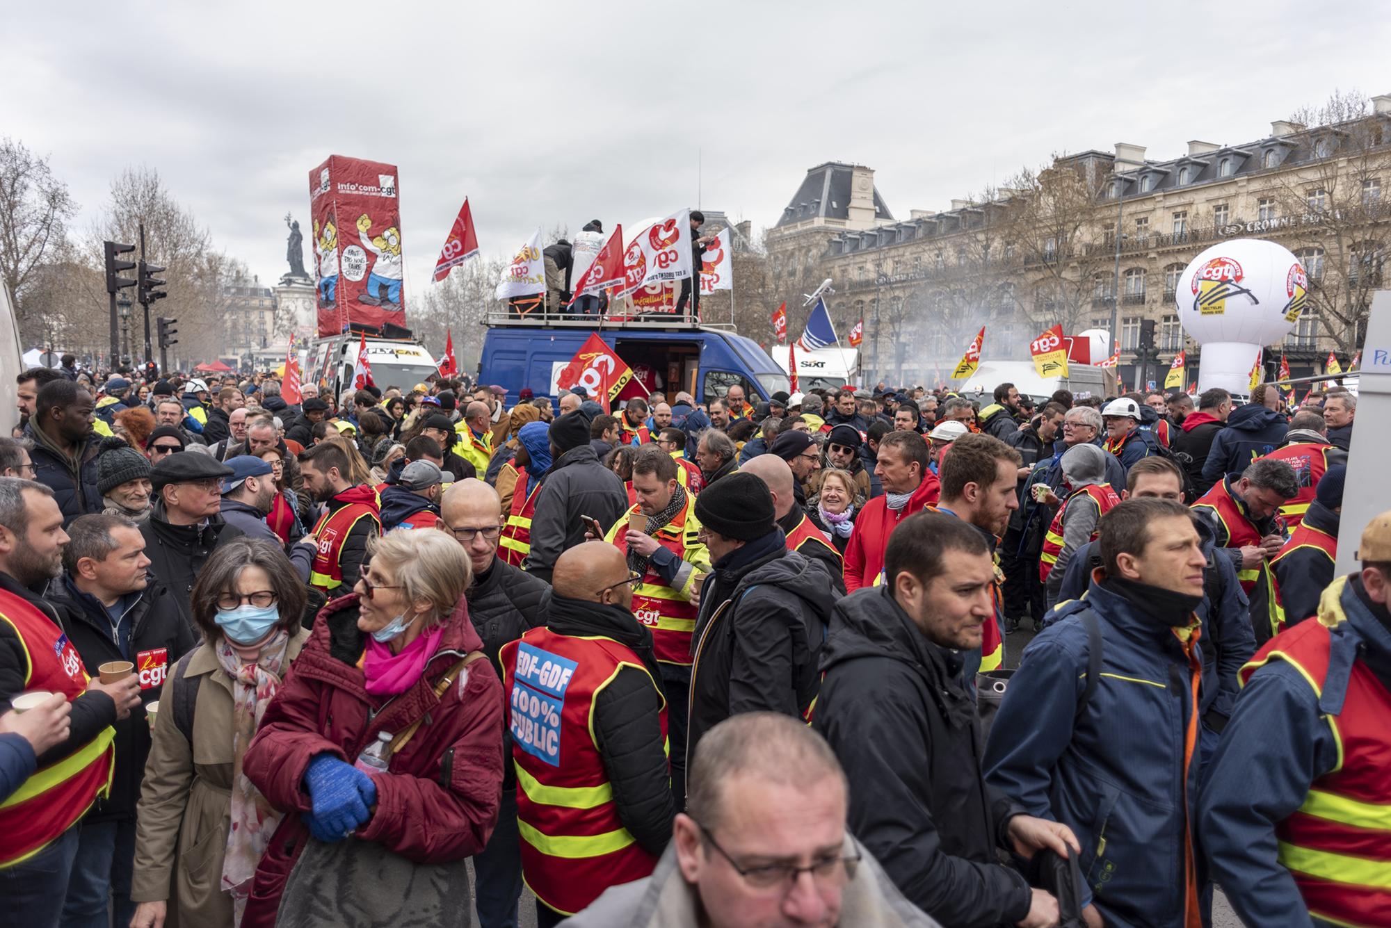
<instances>
[{"instance_id":1,"label":"navy blue jacket on man wearing black CGT neck gaiter","mask_svg":"<svg viewBox=\"0 0 1391 928\"><path fill-rule=\"evenodd\" d=\"M1078 717L1093 610L1102 675ZM1089 902L1107 925L1184 925L1184 854L1196 821L1198 757L1185 760L1192 671L1168 627L1109 586L1059 606L1024 650L985 749L986 781L1082 845ZM1199 649L1200 650L1200 649ZM1213 677L1206 661L1203 677ZM1216 686L1203 679L1202 688ZM1185 777L1187 771L1187 777Z\"/></svg>"}]
</instances>

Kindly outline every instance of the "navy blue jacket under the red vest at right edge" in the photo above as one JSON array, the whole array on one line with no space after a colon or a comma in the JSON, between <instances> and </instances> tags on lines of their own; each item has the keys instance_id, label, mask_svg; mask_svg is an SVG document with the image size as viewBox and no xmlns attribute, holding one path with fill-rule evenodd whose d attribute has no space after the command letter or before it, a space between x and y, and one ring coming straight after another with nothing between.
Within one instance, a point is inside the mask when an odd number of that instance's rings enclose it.
<instances>
[{"instance_id":1,"label":"navy blue jacket under the red vest at right edge","mask_svg":"<svg viewBox=\"0 0 1391 928\"><path fill-rule=\"evenodd\" d=\"M1314 692L1289 661L1273 660L1256 670L1237 700L1199 799L1212 877L1248 925L1314 924L1294 878L1277 861L1276 825L1299 809L1313 781L1341 760L1326 717L1342 710L1358 649L1366 647L1381 660L1391 657L1391 631L1372 614L1353 583L1340 578L1330 593L1330 620L1345 621L1330 632L1333 653L1323 693Z\"/></svg>"}]
</instances>

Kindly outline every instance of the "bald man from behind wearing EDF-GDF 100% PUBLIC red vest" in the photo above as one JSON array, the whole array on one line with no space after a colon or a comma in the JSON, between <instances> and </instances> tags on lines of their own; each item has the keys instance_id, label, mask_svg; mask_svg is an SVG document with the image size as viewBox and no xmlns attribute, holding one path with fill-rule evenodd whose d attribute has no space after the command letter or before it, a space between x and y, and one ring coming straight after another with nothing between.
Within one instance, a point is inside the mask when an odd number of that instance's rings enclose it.
<instances>
[{"instance_id":1,"label":"bald man from behind wearing EDF-GDF 100% PUBLIC red vest","mask_svg":"<svg viewBox=\"0 0 1391 928\"><path fill-rule=\"evenodd\" d=\"M630 611L636 578L627 560L612 545L586 542L563 552L551 577L545 627L502 647L523 870L541 928L609 886L651 875L676 815L666 702L652 633ZM541 799L556 788L612 799L583 809ZM566 835L604 835L616 850L604 854L602 868L591 857L548 853L548 839Z\"/></svg>"}]
</instances>

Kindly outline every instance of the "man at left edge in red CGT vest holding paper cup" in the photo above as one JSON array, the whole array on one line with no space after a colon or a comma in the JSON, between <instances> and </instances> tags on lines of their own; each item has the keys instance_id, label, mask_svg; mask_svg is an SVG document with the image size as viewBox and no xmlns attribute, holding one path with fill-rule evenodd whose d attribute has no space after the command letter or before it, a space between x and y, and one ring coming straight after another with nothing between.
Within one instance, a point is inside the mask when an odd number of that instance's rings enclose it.
<instances>
[{"instance_id":1,"label":"man at left edge in red CGT vest holding paper cup","mask_svg":"<svg viewBox=\"0 0 1391 928\"><path fill-rule=\"evenodd\" d=\"M134 675L88 678L58 614L32 592L61 572L67 542L51 489L0 478L0 711L35 692L61 693L72 706L68 738L39 754L36 772L0 806L0 928L58 922L78 850L74 825L110 792L113 724L139 702Z\"/></svg>"}]
</instances>

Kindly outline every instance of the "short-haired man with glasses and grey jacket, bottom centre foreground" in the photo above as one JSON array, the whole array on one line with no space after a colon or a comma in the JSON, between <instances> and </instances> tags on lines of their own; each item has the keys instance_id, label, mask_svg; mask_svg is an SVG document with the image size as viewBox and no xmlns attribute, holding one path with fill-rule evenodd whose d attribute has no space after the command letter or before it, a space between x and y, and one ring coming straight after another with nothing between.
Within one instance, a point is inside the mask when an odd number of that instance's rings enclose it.
<instances>
[{"instance_id":1,"label":"short-haired man with glasses and grey jacket, bottom centre foreground","mask_svg":"<svg viewBox=\"0 0 1391 928\"><path fill-rule=\"evenodd\" d=\"M701 740L694 764L697 786L652 875L608 889L562 925L938 925L846 831L846 775L807 725L734 715Z\"/></svg>"}]
</instances>

